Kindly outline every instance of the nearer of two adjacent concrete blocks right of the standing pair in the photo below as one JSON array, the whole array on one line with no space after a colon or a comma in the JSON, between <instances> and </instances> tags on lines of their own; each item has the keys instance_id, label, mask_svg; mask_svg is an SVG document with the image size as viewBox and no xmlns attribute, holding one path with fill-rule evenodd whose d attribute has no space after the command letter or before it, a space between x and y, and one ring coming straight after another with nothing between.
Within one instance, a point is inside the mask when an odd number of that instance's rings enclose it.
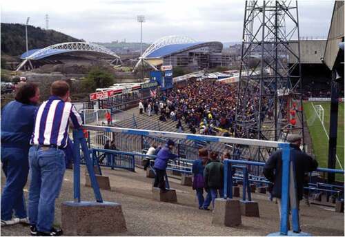
<instances>
[{"instance_id":1,"label":"nearer of two adjacent concrete blocks right of the standing pair","mask_svg":"<svg viewBox=\"0 0 345 237\"><path fill-rule=\"evenodd\" d=\"M213 225L225 225L235 227L242 224L241 208L239 200L234 199L215 199L215 209L212 216Z\"/></svg>"}]
</instances>

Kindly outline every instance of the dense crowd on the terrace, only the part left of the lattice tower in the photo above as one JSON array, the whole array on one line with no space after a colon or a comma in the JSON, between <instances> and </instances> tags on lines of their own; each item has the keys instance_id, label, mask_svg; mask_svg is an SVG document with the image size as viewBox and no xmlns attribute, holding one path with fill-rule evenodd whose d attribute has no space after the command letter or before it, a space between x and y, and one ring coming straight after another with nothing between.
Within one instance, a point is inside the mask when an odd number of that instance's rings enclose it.
<instances>
[{"instance_id":1,"label":"dense crowd on the terrace, only the part left of the lattice tower","mask_svg":"<svg viewBox=\"0 0 345 237\"><path fill-rule=\"evenodd\" d=\"M188 83L184 88L158 94L148 101L141 101L149 115L159 114L160 121L170 118L177 121L177 128L184 121L192 133L215 134L213 127L221 127L233 133L235 125L237 86L217 81ZM150 110L148 110L150 108Z\"/></svg>"}]
</instances>

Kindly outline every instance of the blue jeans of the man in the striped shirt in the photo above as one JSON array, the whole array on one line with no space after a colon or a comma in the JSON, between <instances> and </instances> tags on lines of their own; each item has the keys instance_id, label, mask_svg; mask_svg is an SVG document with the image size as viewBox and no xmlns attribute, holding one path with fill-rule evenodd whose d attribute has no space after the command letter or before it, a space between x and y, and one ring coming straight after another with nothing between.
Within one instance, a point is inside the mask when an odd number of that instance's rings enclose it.
<instances>
[{"instance_id":1,"label":"blue jeans of the man in the striped shirt","mask_svg":"<svg viewBox=\"0 0 345 237\"><path fill-rule=\"evenodd\" d=\"M55 216L55 199L59 196L65 173L65 152L56 148L31 147L29 151L31 183L28 212L31 225L49 232Z\"/></svg>"}]
</instances>

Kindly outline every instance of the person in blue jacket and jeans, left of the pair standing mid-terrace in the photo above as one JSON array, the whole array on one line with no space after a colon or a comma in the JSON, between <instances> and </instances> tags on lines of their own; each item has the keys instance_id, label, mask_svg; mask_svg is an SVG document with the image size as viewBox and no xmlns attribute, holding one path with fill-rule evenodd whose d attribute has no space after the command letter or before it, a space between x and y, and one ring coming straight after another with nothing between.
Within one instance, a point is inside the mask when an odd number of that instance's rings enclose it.
<instances>
[{"instance_id":1,"label":"person in blue jacket and jeans, left of the pair standing mid-terrace","mask_svg":"<svg viewBox=\"0 0 345 237\"><path fill-rule=\"evenodd\" d=\"M197 193L197 200L199 202L199 209L209 210L207 203L210 203L210 193L207 193L206 201L204 198L204 169L208 163L208 152L202 148L199 150L199 159L195 160L192 166L193 189Z\"/></svg>"}]
</instances>

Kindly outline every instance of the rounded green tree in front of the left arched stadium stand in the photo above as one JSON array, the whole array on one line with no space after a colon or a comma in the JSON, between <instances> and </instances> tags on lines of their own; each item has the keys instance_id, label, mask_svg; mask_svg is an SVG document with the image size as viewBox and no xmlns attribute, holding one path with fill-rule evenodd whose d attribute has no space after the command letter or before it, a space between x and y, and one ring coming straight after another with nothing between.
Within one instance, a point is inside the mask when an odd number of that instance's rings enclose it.
<instances>
[{"instance_id":1,"label":"rounded green tree in front of the left arched stadium stand","mask_svg":"<svg viewBox=\"0 0 345 237\"><path fill-rule=\"evenodd\" d=\"M88 72L88 76L83 79L84 87L90 91L97 88L106 88L114 83L114 76L106 68L95 67Z\"/></svg>"}]
</instances>

